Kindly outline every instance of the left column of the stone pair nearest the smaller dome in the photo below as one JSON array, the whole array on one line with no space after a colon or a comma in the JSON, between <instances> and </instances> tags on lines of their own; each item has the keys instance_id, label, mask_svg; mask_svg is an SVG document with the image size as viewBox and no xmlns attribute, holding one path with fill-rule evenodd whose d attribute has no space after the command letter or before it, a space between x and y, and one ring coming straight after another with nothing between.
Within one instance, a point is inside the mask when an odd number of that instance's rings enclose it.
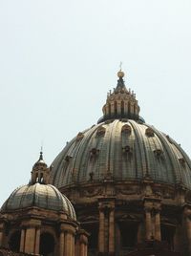
<instances>
[{"instance_id":1,"label":"left column of the stone pair nearest the smaller dome","mask_svg":"<svg viewBox=\"0 0 191 256\"><path fill-rule=\"evenodd\" d=\"M105 214L104 209L99 207L99 231L98 231L98 250L104 252L104 241L105 241Z\"/></svg>"}]
</instances>

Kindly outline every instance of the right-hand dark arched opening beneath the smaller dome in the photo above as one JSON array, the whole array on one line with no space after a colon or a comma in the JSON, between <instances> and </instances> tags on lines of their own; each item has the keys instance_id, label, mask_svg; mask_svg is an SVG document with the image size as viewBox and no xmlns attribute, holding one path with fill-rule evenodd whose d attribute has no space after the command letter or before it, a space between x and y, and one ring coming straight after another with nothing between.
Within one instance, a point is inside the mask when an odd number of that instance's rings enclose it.
<instances>
[{"instance_id":1,"label":"right-hand dark arched opening beneath the smaller dome","mask_svg":"<svg viewBox=\"0 0 191 256\"><path fill-rule=\"evenodd\" d=\"M54 239L53 235L50 233L42 233L40 235L40 248L39 254L43 256L53 256L54 255Z\"/></svg>"}]
</instances>

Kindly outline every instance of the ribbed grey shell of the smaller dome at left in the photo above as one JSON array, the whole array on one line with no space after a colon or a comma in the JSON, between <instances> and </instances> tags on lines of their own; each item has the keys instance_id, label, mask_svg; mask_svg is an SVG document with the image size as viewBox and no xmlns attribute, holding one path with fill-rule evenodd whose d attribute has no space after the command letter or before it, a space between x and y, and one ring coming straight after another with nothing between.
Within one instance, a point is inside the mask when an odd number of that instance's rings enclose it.
<instances>
[{"instance_id":1,"label":"ribbed grey shell of the smaller dome at left","mask_svg":"<svg viewBox=\"0 0 191 256\"><path fill-rule=\"evenodd\" d=\"M34 183L16 188L3 204L1 211L17 210L36 206L43 209L64 211L76 219L72 203L53 185Z\"/></svg>"}]
</instances>

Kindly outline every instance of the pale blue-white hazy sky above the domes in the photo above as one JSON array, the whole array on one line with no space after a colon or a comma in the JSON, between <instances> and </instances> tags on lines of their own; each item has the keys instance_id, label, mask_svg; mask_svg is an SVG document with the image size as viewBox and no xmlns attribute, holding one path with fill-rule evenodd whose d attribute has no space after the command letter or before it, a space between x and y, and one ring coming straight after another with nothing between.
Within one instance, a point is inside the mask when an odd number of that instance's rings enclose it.
<instances>
[{"instance_id":1,"label":"pale blue-white hazy sky above the domes","mask_svg":"<svg viewBox=\"0 0 191 256\"><path fill-rule=\"evenodd\" d=\"M190 0L0 1L0 204L96 124L122 61L140 116L191 156Z\"/></svg>"}]
</instances>

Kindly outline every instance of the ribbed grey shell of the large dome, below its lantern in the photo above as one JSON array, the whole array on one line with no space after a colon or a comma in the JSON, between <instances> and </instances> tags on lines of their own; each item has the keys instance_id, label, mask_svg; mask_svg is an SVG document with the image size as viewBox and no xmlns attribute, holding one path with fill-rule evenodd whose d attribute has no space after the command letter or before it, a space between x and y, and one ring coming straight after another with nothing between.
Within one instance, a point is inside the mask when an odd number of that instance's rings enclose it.
<instances>
[{"instance_id":1,"label":"ribbed grey shell of the large dome, below its lantern","mask_svg":"<svg viewBox=\"0 0 191 256\"><path fill-rule=\"evenodd\" d=\"M69 142L53 160L51 179L58 188L73 183L141 181L182 183L191 189L191 160L173 139L136 120L99 123Z\"/></svg>"}]
</instances>

